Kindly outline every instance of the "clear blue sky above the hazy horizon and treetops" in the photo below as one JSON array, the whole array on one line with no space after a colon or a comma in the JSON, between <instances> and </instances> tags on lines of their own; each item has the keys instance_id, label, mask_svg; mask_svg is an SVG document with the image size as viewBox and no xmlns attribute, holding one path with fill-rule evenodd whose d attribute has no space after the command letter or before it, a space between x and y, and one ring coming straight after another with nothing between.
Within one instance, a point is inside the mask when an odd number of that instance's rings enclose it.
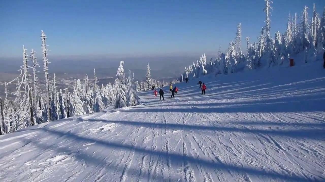
<instances>
[{"instance_id":1,"label":"clear blue sky above the hazy horizon and treetops","mask_svg":"<svg viewBox=\"0 0 325 182\"><path fill-rule=\"evenodd\" d=\"M284 32L288 13L324 0L274 0L272 35ZM0 57L19 57L22 45L41 52L40 33L55 56L173 56L215 54L235 37L238 22L256 40L263 0L227 1L0 1ZM244 49L244 47L243 47Z\"/></svg>"}]
</instances>

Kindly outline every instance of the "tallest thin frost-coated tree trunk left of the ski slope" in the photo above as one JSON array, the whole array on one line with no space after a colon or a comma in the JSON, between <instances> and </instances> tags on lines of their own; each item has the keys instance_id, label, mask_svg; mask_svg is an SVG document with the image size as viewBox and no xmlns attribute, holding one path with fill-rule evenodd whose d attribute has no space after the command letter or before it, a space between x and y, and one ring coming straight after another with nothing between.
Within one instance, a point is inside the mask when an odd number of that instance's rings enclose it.
<instances>
[{"instance_id":1,"label":"tallest thin frost-coated tree trunk left of the ski slope","mask_svg":"<svg viewBox=\"0 0 325 182\"><path fill-rule=\"evenodd\" d=\"M41 40L42 40L42 54L43 54L43 67L44 67L44 72L45 72L45 89L46 89L46 106L47 106L47 119L48 121L51 120L51 108L50 108L50 87L49 87L49 73L48 73L48 59L47 59L47 48L46 48L46 39L47 36L45 35L44 31L41 31Z\"/></svg>"}]
</instances>

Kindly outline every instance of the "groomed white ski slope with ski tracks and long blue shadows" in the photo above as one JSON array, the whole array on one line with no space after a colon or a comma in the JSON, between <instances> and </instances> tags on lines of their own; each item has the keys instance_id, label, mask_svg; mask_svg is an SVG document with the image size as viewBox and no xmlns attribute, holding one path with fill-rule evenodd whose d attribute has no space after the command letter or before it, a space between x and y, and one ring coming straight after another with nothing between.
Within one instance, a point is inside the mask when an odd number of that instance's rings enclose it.
<instances>
[{"instance_id":1,"label":"groomed white ski slope with ski tracks and long blue shadows","mask_svg":"<svg viewBox=\"0 0 325 182\"><path fill-rule=\"evenodd\" d=\"M208 75L204 96L190 80L0 136L0 181L324 181L321 64Z\"/></svg>"}]
</instances>

